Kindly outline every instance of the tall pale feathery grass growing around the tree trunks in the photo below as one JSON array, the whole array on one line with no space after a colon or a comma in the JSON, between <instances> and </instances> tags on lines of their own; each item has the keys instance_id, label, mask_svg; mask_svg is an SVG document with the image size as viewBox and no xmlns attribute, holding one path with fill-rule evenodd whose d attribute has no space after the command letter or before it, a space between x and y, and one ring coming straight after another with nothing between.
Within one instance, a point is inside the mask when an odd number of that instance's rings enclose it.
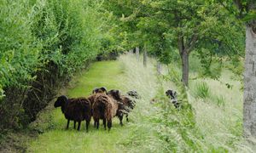
<instances>
[{"instance_id":1,"label":"tall pale feathery grass growing around the tree trunks","mask_svg":"<svg viewBox=\"0 0 256 153\"><path fill-rule=\"evenodd\" d=\"M188 99L195 116L188 117L168 104L164 92L177 90L177 83L157 76L154 59L148 59L147 67L133 54L122 55L119 61L127 76L125 90L136 89L142 96L131 113L134 130L119 142L128 146L129 152L253 152L253 146L242 137L242 85L231 79L230 71L223 71L219 81L190 80ZM162 73L170 70L180 74L176 65L164 66ZM159 101L151 104L155 97ZM188 121L191 118L195 125Z\"/></svg>"}]
</instances>

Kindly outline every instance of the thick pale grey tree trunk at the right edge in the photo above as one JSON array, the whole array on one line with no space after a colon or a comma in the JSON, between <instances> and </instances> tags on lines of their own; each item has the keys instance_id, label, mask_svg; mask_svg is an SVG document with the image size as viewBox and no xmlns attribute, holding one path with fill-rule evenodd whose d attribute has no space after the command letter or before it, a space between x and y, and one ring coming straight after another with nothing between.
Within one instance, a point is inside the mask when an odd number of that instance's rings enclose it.
<instances>
[{"instance_id":1,"label":"thick pale grey tree trunk at the right edge","mask_svg":"<svg viewBox=\"0 0 256 153\"><path fill-rule=\"evenodd\" d=\"M246 28L246 57L244 72L243 129L246 137L256 138L256 34Z\"/></svg>"}]
</instances>

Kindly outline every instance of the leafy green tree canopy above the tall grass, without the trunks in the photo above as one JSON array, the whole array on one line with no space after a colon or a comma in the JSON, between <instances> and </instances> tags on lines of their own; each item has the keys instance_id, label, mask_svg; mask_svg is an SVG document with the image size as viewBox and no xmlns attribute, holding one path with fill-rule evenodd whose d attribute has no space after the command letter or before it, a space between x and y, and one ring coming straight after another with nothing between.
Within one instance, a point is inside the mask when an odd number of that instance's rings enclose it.
<instances>
[{"instance_id":1,"label":"leafy green tree canopy above the tall grass, without the trunks","mask_svg":"<svg viewBox=\"0 0 256 153\"><path fill-rule=\"evenodd\" d=\"M121 20L119 32L125 34L121 46L130 49L146 44L148 53L164 64L180 62L184 50L188 54L196 52L202 67L199 76L218 79L223 58L233 60L244 56L243 25L223 3L202 0L106 3L116 20Z\"/></svg>"}]
</instances>

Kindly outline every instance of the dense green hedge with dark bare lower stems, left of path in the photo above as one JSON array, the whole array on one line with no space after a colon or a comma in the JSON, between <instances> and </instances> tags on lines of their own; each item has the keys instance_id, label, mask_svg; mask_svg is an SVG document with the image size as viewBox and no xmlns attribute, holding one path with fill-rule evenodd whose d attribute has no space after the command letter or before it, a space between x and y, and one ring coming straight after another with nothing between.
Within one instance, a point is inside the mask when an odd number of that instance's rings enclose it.
<instances>
[{"instance_id":1,"label":"dense green hedge with dark bare lower stems, left of path","mask_svg":"<svg viewBox=\"0 0 256 153\"><path fill-rule=\"evenodd\" d=\"M107 17L99 8L90 0L0 2L0 129L34 120L100 54Z\"/></svg>"}]
</instances>

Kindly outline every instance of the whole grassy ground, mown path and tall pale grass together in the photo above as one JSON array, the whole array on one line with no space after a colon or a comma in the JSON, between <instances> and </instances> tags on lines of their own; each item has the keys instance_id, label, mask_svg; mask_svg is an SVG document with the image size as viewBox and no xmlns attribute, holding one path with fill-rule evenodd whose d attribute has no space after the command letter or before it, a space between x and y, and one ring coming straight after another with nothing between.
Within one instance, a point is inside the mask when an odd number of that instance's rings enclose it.
<instances>
[{"instance_id":1,"label":"whole grassy ground, mown path and tall pale grass together","mask_svg":"<svg viewBox=\"0 0 256 153\"><path fill-rule=\"evenodd\" d=\"M73 78L69 88L61 91L68 97L87 96L92 88L119 88L123 93L136 89L142 99L130 114L131 122L119 126L114 119L108 133L102 127L94 129L90 122L85 133L73 130L73 122L65 130L67 120L53 103L43 111L31 127L42 131L38 139L28 142L28 152L253 152L253 146L242 139L241 83L231 79L230 71L223 71L219 81L190 80L189 104L195 113L195 125L189 123L185 111L177 111L164 92L178 91L174 82L156 74L156 61L148 59L143 67L131 54L121 55L117 61L102 61L90 65ZM162 67L162 73L176 66ZM231 85L227 88L226 83ZM152 104L150 99L161 99Z\"/></svg>"}]
</instances>

